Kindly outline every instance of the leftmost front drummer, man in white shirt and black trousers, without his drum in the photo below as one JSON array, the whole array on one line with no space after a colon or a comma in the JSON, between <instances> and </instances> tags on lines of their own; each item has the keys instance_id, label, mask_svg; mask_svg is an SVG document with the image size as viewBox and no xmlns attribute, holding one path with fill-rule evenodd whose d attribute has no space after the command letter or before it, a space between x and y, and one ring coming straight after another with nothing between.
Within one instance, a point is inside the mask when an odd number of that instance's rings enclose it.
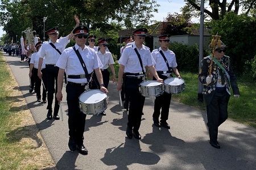
<instances>
[{"instance_id":1,"label":"leftmost front drummer, man in white shirt and black trousers, without his drum","mask_svg":"<svg viewBox=\"0 0 256 170\"><path fill-rule=\"evenodd\" d=\"M84 146L83 136L86 114L80 111L79 96L84 92L86 87L89 87L88 83L91 80L91 73L93 70L97 75L98 82L100 82L100 90L105 93L108 93L108 90L103 84L100 70L102 64L97 53L85 45L88 37L88 28L84 25L80 25L74 29L73 35L75 35L75 46L65 49L56 63L60 68L57 80L58 88L56 97L60 103L63 97L61 91L65 71L68 75L68 84L66 87L69 128L68 146L71 151L74 151L77 148L81 154L86 155L88 154L88 151ZM83 64L79 60L79 55L85 63L85 68L82 67Z\"/></svg>"}]
</instances>

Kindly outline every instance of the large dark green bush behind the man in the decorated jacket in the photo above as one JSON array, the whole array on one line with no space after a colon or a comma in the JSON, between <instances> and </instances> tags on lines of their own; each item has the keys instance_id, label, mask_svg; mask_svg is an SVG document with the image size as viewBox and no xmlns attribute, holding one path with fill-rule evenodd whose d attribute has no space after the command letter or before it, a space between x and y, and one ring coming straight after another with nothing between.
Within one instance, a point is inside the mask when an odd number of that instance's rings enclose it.
<instances>
[{"instance_id":1,"label":"large dark green bush behind the man in the decorated jacket","mask_svg":"<svg viewBox=\"0 0 256 170\"><path fill-rule=\"evenodd\" d=\"M209 25L212 27L212 35L218 32L221 41L228 46L225 54L232 57L233 70L237 74L244 73L245 63L251 61L256 54L256 19L228 12L224 19L212 20Z\"/></svg>"}]
</instances>

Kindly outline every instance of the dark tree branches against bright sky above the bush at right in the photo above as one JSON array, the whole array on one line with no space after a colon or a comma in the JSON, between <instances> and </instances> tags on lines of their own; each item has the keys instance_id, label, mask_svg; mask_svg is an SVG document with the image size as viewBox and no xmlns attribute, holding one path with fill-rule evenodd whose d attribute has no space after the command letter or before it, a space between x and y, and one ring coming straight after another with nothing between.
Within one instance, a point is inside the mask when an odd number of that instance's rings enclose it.
<instances>
[{"instance_id":1,"label":"dark tree branches against bright sky above the bush at right","mask_svg":"<svg viewBox=\"0 0 256 170\"><path fill-rule=\"evenodd\" d=\"M184 10L192 12L191 10L196 8L197 11L200 11L200 0L184 0L187 2L187 6ZM207 9L204 9L205 14L209 15L210 18L213 20L223 19L225 14L227 12L233 11L236 15L238 15L238 12L240 10L240 6L242 6L242 9L246 12L245 14L249 14L250 11L255 9L256 2L255 0L230 0L231 2L228 3L226 0L220 2L219 0L206 0L205 2L209 2L209 6L212 9L212 11L209 11Z\"/></svg>"}]
</instances>

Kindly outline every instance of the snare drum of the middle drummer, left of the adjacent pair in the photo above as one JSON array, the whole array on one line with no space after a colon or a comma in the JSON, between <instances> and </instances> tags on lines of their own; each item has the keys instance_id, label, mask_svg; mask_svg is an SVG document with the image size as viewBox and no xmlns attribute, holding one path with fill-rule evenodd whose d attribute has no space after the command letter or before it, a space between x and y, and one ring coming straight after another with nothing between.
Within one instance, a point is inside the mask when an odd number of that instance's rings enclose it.
<instances>
[{"instance_id":1,"label":"snare drum of the middle drummer, left of the adjacent pair","mask_svg":"<svg viewBox=\"0 0 256 170\"><path fill-rule=\"evenodd\" d=\"M160 96L163 94L163 84L157 81L146 81L139 84L142 96Z\"/></svg>"}]
</instances>

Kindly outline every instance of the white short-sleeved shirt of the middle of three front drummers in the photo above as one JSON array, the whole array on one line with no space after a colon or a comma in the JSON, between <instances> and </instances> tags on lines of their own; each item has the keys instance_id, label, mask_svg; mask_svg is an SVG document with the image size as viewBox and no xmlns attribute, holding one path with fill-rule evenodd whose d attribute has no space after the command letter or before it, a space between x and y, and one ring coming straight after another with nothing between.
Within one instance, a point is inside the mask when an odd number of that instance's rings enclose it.
<instances>
[{"instance_id":1,"label":"white short-sleeved shirt of the middle of three front drummers","mask_svg":"<svg viewBox=\"0 0 256 170\"><path fill-rule=\"evenodd\" d=\"M135 42L132 45L127 46L122 53L118 63L125 66L125 73L141 73L141 63L139 62L139 58L135 52ZM143 70L145 71L146 66L154 65L155 61L150 53L150 48L147 46L142 45L141 49L138 49L139 54L141 55Z\"/></svg>"}]
</instances>

